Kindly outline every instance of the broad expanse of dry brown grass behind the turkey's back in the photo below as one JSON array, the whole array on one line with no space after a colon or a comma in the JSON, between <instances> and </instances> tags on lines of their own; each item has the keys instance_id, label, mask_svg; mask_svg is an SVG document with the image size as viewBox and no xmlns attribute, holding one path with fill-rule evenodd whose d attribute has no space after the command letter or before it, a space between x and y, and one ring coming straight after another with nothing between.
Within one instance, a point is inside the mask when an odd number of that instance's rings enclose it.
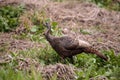
<instances>
[{"instance_id":1,"label":"broad expanse of dry brown grass behind the turkey's back","mask_svg":"<svg viewBox=\"0 0 120 80\"><path fill-rule=\"evenodd\" d=\"M77 1L52 2L50 0L6 0L3 4L24 3L29 9L42 9L62 28L75 30L81 39L89 41L98 49L114 49L120 52L120 12L108 11L91 3ZM34 7L31 7L34 6ZM44 8L43 8L44 7ZM30 11L30 10L29 10ZM16 30L24 32L25 25L32 26L28 19L33 12L21 16L21 25ZM38 15L39 16L39 15ZM90 34L79 34L80 29Z\"/></svg>"}]
</instances>

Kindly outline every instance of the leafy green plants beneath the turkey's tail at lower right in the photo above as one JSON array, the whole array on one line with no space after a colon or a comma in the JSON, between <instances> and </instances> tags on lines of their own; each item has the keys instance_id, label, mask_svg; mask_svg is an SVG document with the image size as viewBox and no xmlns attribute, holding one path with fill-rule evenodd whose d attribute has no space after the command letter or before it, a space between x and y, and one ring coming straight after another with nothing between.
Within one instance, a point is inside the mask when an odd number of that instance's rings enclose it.
<instances>
[{"instance_id":1,"label":"leafy green plants beneath the turkey's tail at lower right","mask_svg":"<svg viewBox=\"0 0 120 80\"><path fill-rule=\"evenodd\" d=\"M96 58L94 55L79 54L75 65L81 68L78 74L78 80L88 80L90 78L96 78L99 76L105 76L109 80L119 79L120 55L115 56L113 50L103 51L107 54L109 61L104 62L101 59Z\"/></svg>"}]
</instances>

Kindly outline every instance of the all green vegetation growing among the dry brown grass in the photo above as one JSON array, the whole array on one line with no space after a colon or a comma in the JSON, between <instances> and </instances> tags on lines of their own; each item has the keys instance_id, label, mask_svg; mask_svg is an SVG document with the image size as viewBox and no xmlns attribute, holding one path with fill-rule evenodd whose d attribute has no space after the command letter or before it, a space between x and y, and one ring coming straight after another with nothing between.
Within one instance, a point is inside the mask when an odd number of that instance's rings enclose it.
<instances>
[{"instance_id":1,"label":"all green vegetation growing among the dry brown grass","mask_svg":"<svg viewBox=\"0 0 120 80\"><path fill-rule=\"evenodd\" d=\"M58 0L62 1L62 0ZM112 0L92 0L98 5L110 7L109 4ZM118 4L118 3L117 3ZM111 7L110 7L111 8ZM118 6L114 8L115 10L120 10ZM9 32L14 30L19 25L19 17L23 13L24 8L21 6L5 6L0 8L0 31ZM38 15L39 14L39 15ZM41 74L34 68L31 67L31 72L22 71L15 69L18 65L17 58L31 58L39 61L42 65L55 64L58 62L70 64L69 59L63 62L58 54L48 45L47 41L43 36L44 25L41 24L44 21L50 21L49 19L42 19L40 15L43 16L44 12L34 13L30 17L33 23L32 27L29 27L27 33L17 35L14 38L29 39L34 42L44 43L44 48L35 48L26 51L19 51L18 53L10 52L12 60L9 63L0 64L0 80L42 80ZM57 27L57 22L51 22L52 31L54 35L60 36L61 30ZM80 30L83 34L90 34L87 31ZM103 54L107 55L109 61L101 60L95 55L90 54L79 54L74 57L74 66L79 70L76 71L77 80L89 80L94 78L95 80L99 76L105 76L109 80L120 80L120 55L115 56L113 50L102 51ZM57 80L52 78L52 80Z\"/></svg>"}]
</instances>

